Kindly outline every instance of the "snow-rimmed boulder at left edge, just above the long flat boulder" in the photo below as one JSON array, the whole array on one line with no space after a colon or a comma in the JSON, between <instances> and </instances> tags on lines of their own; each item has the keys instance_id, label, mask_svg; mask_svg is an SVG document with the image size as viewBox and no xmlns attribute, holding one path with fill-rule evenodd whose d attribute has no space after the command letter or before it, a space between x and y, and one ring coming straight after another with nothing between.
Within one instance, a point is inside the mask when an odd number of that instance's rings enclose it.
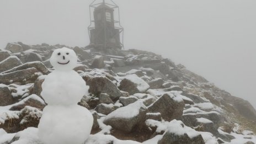
<instances>
[{"instance_id":1,"label":"snow-rimmed boulder at left edge, just above the long flat boulder","mask_svg":"<svg viewBox=\"0 0 256 144\"><path fill-rule=\"evenodd\" d=\"M11 68L17 67L19 65L22 65L22 62L17 56L9 56L8 58L0 62L0 73L10 70Z\"/></svg>"}]
</instances>

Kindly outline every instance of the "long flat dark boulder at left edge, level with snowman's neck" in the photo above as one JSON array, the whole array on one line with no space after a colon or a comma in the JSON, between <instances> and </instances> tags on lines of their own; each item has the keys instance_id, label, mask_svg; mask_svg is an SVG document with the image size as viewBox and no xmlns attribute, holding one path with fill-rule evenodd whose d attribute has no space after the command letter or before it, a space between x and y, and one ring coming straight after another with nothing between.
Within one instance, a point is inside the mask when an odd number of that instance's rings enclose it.
<instances>
[{"instance_id":1,"label":"long flat dark boulder at left edge, level with snowman's neck","mask_svg":"<svg viewBox=\"0 0 256 144\"><path fill-rule=\"evenodd\" d=\"M27 84L34 83L36 78L38 78L38 74L40 71L36 68L28 68L26 70L20 70L10 73L0 74L0 83L3 84Z\"/></svg>"}]
</instances>

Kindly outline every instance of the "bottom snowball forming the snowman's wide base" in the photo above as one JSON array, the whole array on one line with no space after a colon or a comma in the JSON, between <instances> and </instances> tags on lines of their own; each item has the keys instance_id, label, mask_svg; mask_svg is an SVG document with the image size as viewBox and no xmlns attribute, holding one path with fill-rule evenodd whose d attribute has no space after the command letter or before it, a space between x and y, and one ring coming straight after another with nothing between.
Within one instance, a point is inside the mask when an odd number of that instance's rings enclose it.
<instances>
[{"instance_id":1,"label":"bottom snowball forming the snowman's wide base","mask_svg":"<svg viewBox=\"0 0 256 144\"><path fill-rule=\"evenodd\" d=\"M45 144L83 143L89 137L93 116L79 105L47 105L38 125Z\"/></svg>"}]
</instances>

